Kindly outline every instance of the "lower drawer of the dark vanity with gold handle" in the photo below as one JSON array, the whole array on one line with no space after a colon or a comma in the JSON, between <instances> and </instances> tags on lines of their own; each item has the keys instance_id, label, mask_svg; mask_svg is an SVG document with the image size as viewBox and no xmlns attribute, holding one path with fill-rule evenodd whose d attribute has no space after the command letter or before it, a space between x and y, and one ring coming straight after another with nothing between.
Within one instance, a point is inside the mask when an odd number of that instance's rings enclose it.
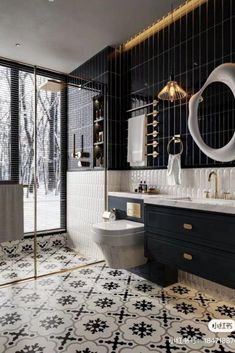
<instances>
[{"instance_id":1,"label":"lower drawer of the dark vanity with gold handle","mask_svg":"<svg viewBox=\"0 0 235 353\"><path fill-rule=\"evenodd\" d=\"M146 234L145 253L150 260L175 266L183 271L235 288L235 259L232 254L210 251L200 246L192 248L184 242L174 244L151 233Z\"/></svg>"}]
</instances>

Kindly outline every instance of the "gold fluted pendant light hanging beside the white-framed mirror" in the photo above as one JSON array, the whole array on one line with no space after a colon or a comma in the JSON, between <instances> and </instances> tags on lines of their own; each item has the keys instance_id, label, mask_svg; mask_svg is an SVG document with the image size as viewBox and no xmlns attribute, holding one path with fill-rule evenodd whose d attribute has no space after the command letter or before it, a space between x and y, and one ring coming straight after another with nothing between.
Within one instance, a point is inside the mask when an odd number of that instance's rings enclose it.
<instances>
[{"instance_id":1,"label":"gold fluted pendant light hanging beside the white-framed mirror","mask_svg":"<svg viewBox=\"0 0 235 353\"><path fill-rule=\"evenodd\" d=\"M174 17L173 17L173 4L171 5L171 24L174 23ZM169 30L170 26L169 25ZM172 35L171 35L172 37ZM172 43L171 43L172 44ZM174 30L174 46L175 46L175 30ZM173 56L173 49L171 48L171 69L172 73L170 75L170 79L167 82L167 84L163 87L163 89L158 93L158 98L161 100L166 100L170 102L174 102L176 100L183 99L187 96L187 93L183 90L182 87L179 86L179 84L174 80L174 74L173 74L173 63L174 63L174 56Z\"/></svg>"}]
</instances>

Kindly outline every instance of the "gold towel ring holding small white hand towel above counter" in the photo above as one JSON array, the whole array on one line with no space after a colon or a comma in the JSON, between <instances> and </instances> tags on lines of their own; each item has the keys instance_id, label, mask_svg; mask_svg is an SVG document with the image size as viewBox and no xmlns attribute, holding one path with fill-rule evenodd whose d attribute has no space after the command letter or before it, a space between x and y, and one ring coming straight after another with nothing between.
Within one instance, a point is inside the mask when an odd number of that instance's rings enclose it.
<instances>
[{"instance_id":1,"label":"gold towel ring holding small white hand towel above counter","mask_svg":"<svg viewBox=\"0 0 235 353\"><path fill-rule=\"evenodd\" d=\"M180 144L180 151L177 154L170 153L170 145L174 142ZM167 166L167 180L168 185L180 185L181 184L181 154L183 153L183 142L181 141L180 135L174 135L167 144L168 166Z\"/></svg>"}]
</instances>

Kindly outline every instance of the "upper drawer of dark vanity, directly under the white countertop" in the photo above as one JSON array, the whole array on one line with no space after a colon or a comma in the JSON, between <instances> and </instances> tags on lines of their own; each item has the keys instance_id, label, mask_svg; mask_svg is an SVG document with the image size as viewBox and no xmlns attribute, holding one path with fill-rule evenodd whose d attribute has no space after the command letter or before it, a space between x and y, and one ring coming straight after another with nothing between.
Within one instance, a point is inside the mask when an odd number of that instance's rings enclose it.
<instances>
[{"instance_id":1,"label":"upper drawer of dark vanity, directly under the white countertop","mask_svg":"<svg viewBox=\"0 0 235 353\"><path fill-rule=\"evenodd\" d=\"M147 231L163 238L235 252L233 215L146 205L145 225Z\"/></svg>"}]
</instances>

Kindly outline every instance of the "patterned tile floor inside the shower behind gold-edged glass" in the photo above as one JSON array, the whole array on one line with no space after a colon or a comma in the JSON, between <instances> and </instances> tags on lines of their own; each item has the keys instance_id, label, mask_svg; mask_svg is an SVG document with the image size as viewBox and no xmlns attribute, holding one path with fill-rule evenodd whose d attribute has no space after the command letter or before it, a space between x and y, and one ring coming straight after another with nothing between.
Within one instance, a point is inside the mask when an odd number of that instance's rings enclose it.
<instances>
[{"instance_id":1,"label":"patterned tile floor inside the shower behind gold-edged glass","mask_svg":"<svg viewBox=\"0 0 235 353\"><path fill-rule=\"evenodd\" d=\"M38 238L38 274L74 268L94 262L66 247L62 234ZM0 244L0 284L34 275L33 240L23 239Z\"/></svg>"}]
</instances>

